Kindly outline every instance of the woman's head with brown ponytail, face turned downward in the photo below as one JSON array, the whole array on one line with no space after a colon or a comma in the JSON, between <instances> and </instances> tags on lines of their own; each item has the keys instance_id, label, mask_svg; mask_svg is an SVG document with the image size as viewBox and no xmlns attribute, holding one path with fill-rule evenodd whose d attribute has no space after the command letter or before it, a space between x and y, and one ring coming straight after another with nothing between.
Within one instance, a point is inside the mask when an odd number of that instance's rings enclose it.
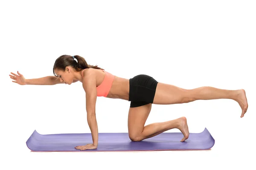
<instances>
[{"instance_id":1,"label":"woman's head with brown ponytail, face turned downward","mask_svg":"<svg viewBox=\"0 0 256 170\"><path fill-rule=\"evenodd\" d=\"M64 81L67 84L73 82L74 72L79 72L88 68L101 69L98 66L87 64L85 59L79 55L74 55L73 57L71 55L61 55L56 59L53 65L53 75L59 77L61 81ZM56 72L57 74L55 74Z\"/></svg>"}]
</instances>

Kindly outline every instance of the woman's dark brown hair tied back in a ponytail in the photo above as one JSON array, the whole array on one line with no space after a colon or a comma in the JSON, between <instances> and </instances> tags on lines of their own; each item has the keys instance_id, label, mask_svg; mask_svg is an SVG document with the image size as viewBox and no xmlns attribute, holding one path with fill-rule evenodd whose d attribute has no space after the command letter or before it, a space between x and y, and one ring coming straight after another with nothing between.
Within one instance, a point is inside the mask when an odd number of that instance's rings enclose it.
<instances>
[{"instance_id":1,"label":"woman's dark brown hair tied back in a ponytail","mask_svg":"<svg viewBox=\"0 0 256 170\"><path fill-rule=\"evenodd\" d=\"M102 69L102 68L99 68L97 65L93 66L93 65L87 64L85 59L79 55L74 55L74 58L76 58L77 62L76 60L73 59L71 55L61 55L60 57L58 57L53 65L53 75L58 77L55 74L54 70L58 69L61 71L65 71L66 66L71 66L74 69L76 69L76 71L78 72L82 69L88 69L88 68Z\"/></svg>"}]
</instances>

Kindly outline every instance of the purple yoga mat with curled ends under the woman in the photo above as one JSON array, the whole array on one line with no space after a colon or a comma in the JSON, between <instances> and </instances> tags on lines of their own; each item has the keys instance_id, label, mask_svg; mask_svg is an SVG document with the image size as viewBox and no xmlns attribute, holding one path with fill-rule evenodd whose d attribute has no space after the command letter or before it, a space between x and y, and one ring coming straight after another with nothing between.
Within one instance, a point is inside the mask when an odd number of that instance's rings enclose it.
<instances>
[{"instance_id":1,"label":"purple yoga mat with curled ends under the woman","mask_svg":"<svg viewBox=\"0 0 256 170\"><path fill-rule=\"evenodd\" d=\"M207 128L201 133L190 133L180 142L182 133L161 133L143 141L131 141L128 133L99 133L95 150L76 150L79 145L92 143L91 133L63 133L41 135L36 130L26 141L32 151L144 151L144 150L208 150L215 140Z\"/></svg>"}]
</instances>

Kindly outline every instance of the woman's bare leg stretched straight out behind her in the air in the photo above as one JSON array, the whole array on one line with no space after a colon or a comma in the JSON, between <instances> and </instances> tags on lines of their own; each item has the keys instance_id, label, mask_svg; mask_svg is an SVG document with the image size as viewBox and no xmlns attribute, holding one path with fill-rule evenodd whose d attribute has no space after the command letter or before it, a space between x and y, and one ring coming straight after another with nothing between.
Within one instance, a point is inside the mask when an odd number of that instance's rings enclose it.
<instances>
[{"instance_id":1,"label":"woman's bare leg stretched straight out behind her in the air","mask_svg":"<svg viewBox=\"0 0 256 170\"><path fill-rule=\"evenodd\" d=\"M227 90L210 86L195 89L183 89L171 84L158 82L153 104L182 104L196 100L233 99L242 109L241 118L247 111L248 104L244 89Z\"/></svg>"}]
</instances>

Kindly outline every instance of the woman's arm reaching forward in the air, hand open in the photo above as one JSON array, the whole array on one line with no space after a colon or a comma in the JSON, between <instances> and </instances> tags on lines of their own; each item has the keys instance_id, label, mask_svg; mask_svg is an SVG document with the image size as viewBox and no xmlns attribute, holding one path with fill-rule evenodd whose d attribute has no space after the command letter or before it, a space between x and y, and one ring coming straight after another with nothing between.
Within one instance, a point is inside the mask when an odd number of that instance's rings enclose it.
<instances>
[{"instance_id":1,"label":"woman's arm reaching forward in the air, hand open","mask_svg":"<svg viewBox=\"0 0 256 170\"><path fill-rule=\"evenodd\" d=\"M9 75L12 78L14 83L20 85L55 85L55 84L63 84L65 82L61 82L58 77L55 76L46 76L42 78L33 78L33 79L26 79L20 72L17 72L18 75L11 72L12 75Z\"/></svg>"}]
</instances>

